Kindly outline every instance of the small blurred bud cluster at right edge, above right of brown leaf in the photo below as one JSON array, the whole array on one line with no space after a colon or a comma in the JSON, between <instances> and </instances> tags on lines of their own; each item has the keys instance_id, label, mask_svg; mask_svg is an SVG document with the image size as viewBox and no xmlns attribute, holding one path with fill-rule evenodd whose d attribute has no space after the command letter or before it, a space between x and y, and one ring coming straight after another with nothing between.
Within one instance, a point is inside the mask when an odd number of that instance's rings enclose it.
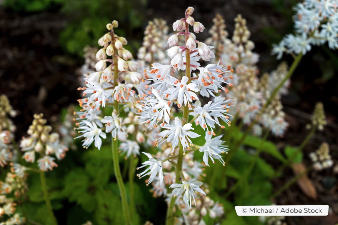
<instances>
[{"instance_id":1,"label":"small blurred bud cluster at right edge, above right of brown leaf","mask_svg":"<svg viewBox=\"0 0 338 225\"><path fill-rule=\"evenodd\" d=\"M330 146L328 143L323 142L315 152L309 154L313 162L315 170L323 170L333 166L333 161L330 156Z\"/></svg>"}]
</instances>

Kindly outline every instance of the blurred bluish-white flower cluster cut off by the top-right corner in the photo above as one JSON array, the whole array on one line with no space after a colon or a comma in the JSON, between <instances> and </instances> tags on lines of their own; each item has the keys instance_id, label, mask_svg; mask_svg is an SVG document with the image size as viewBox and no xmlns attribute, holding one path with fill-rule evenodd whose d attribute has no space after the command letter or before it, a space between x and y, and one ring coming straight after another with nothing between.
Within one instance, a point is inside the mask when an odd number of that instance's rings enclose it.
<instances>
[{"instance_id":1,"label":"blurred bluish-white flower cluster cut off by the top-right corner","mask_svg":"<svg viewBox=\"0 0 338 225\"><path fill-rule=\"evenodd\" d=\"M304 55L311 50L311 45L319 46L326 42L330 49L338 48L336 0L305 0L294 9L296 34L288 34L279 45L274 45L272 54L277 54L277 59L282 58L283 53Z\"/></svg>"}]
</instances>

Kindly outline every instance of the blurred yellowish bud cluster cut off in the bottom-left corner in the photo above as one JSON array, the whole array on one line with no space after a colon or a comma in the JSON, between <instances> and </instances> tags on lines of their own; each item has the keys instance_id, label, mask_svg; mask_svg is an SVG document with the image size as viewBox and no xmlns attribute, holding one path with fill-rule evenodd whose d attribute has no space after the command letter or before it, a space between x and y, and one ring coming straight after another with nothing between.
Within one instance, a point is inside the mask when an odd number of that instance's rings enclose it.
<instances>
[{"instance_id":1,"label":"blurred yellowish bud cluster cut off in the bottom-left corner","mask_svg":"<svg viewBox=\"0 0 338 225\"><path fill-rule=\"evenodd\" d=\"M0 218L3 221L4 216L6 215L7 219L4 222L1 222L1 225L20 225L25 223L25 218L20 217L19 213L16 211L16 203L14 199L7 198L6 195L14 192L16 197L19 197L25 190L27 190L27 185L25 182L25 177L19 177L14 173L7 173L5 182L0 181Z\"/></svg>"}]
</instances>

